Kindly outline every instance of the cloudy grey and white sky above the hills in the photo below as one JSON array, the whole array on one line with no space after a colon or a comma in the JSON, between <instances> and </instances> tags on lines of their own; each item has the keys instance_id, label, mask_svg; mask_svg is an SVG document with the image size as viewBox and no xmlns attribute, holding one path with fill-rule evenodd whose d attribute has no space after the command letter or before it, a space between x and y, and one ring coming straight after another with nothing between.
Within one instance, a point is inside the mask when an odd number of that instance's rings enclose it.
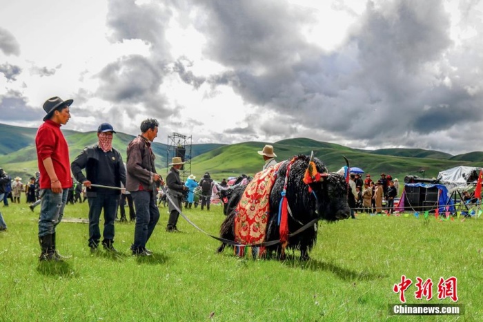
<instances>
[{"instance_id":1,"label":"cloudy grey and white sky above the hills","mask_svg":"<svg viewBox=\"0 0 483 322\"><path fill-rule=\"evenodd\" d=\"M480 151L477 0L0 0L0 122Z\"/></svg>"}]
</instances>

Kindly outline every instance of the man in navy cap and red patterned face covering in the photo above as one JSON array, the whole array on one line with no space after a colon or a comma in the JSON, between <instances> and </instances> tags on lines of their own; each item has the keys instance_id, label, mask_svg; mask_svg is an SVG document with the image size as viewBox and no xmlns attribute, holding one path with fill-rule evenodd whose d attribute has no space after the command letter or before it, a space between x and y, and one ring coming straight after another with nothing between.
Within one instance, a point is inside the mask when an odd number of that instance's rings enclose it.
<instances>
[{"instance_id":1,"label":"man in navy cap and red patterned face covering","mask_svg":"<svg viewBox=\"0 0 483 322\"><path fill-rule=\"evenodd\" d=\"M101 231L99 217L104 210L103 248L117 253L114 244L114 221L116 218L119 189L92 187L92 184L120 188L121 182L126 186L126 169L121 153L112 148L112 135L116 133L109 123L99 125L97 138L99 142L89 146L75 158L70 169L77 181L86 186L89 203L89 240L90 252L95 253L99 246ZM82 169L86 169L86 176Z\"/></svg>"}]
</instances>

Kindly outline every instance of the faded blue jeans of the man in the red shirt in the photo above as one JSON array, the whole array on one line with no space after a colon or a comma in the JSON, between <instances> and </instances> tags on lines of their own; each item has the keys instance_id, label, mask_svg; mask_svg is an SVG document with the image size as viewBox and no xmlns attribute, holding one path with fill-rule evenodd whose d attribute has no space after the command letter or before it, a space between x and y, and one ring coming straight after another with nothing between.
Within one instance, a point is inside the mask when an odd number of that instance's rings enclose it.
<instances>
[{"instance_id":1,"label":"faded blue jeans of the man in the red shirt","mask_svg":"<svg viewBox=\"0 0 483 322\"><path fill-rule=\"evenodd\" d=\"M41 189L39 237L55 233L55 227L59 225L63 217L63 208L66 207L69 189L63 189L61 193L53 193L50 189Z\"/></svg>"}]
</instances>

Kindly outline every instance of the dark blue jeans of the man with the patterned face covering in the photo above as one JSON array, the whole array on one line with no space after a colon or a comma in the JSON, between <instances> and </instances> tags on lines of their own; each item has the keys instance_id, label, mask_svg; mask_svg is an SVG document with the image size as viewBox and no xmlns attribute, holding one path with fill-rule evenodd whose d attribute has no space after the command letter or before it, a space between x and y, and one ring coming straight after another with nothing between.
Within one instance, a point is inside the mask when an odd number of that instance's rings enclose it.
<instances>
[{"instance_id":1,"label":"dark blue jeans of the man with the patterned face covering","mask_svg":"<svg viewBox=\"0 0 483 322\"><path fill-rule=\"evenodd\" d=\"M114 220L116 218L117 200L119 195L115 193L96 193L95 197L88 197L89 202L89 247L96 248L99 245L101 231L99 230L99 217L104 209L103 243L109 240L114 242Z\"/></svg>"}]
</instances>

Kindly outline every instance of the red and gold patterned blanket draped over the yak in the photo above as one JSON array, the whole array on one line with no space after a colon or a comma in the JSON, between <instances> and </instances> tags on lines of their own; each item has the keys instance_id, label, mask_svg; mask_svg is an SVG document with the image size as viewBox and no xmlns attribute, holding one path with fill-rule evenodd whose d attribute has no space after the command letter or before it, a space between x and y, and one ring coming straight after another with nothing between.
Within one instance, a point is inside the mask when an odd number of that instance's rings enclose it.
<instances>
[{"instance_id":1,"label":"red and gold patterned blanket draped over the yak","mask_svg":"<svg viewBox=\"0 0 483 322\"><path fill-rule=\"evenodd\" d=\"M276 172L282 163L284 162L279 162L255 174L253 180L246 186L236 209L235 242L250 245L265 241L266 225L270 214L270 191L276 179ZM239 248L235 247L235 253L244 256L244 249ZM257 256L262 256L264 253L264 247L260 248L256 250L259 253Z\"/></svg>"}]
</instances>

